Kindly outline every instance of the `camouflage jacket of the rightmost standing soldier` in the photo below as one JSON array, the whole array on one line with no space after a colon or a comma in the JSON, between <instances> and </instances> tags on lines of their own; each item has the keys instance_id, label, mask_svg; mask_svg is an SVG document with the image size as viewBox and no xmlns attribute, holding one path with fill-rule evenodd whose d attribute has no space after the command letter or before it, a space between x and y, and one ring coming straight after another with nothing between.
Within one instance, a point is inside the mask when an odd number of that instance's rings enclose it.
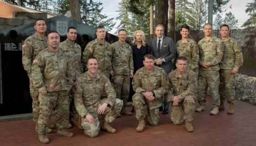
<instances>
[{"instance_id":1,"label":"camouflage jacket of the rightmost standing soldier","mask_svg":"<svg viewBox=\"0 0 256 146\"><path fill-rule=\"evenodd\" d=\"M234 38L221 40L223 42L224 51L220 62L220 69L240 68L244 63L242 49Z\"/></svg>"}]
</instances>

